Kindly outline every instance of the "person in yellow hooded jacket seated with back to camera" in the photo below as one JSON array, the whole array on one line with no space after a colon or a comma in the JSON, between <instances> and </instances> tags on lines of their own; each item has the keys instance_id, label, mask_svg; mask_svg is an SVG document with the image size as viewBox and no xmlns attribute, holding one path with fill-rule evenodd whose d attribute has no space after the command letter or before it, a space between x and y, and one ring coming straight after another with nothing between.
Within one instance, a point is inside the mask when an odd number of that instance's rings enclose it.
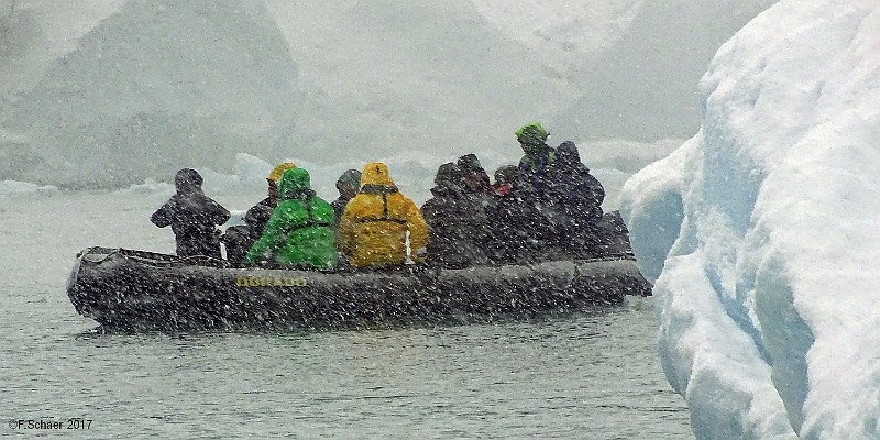
<instances>
[{"instance_id":1,"label":"person in yellow hooded jacket seated with back to camera","mask_svg":"<svg viewBox=\"0 0 880 440\"><path fill-rule=\"evenodd\" d=\"M340 250L352 267L389 266L406 262L406 234L410 257L425 260L428 226L421 211L397 190L388 167L374 162L361 173L361 190L345 206L340 228Z\"/></svg>"}]
</instances>

